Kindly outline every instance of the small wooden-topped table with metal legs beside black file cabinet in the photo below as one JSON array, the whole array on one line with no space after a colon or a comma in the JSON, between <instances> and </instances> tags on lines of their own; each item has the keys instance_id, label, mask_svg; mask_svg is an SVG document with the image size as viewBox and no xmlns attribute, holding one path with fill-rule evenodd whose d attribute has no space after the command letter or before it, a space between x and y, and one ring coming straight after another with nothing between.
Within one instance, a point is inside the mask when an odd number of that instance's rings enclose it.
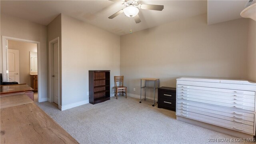
<instances>
[{"instance_id":1,"label":"small wooden-topped table with metal legs beside black file cabinet","mask_svg":"<svg viewBox=\"0 0 256 144\"><path fill-rule=\"evenodd\" d=\"M142 86L142 81L145 81L144 86ZM147 81L154 81L154 86L147 86ZM156 87L156 82L158 82L158 87ZM146 100L146 90L147 89L153 89L154 90L154 102L152 106L155 106L155 98L156 98L156 89L159 88L159 78L141 78L140 79L140 103L141 103L141 95L142 95L142 89L145 89L145 98Z\"/></svg>"}]
</instances>

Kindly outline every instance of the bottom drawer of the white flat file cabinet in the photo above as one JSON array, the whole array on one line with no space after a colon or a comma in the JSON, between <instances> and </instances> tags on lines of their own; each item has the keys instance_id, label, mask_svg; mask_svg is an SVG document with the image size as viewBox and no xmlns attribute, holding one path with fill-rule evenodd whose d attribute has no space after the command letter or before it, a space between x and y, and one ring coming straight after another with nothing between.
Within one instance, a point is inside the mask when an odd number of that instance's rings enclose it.
<instances>
[{"instance_id":1,"label":"bottom drawer of the white flat file cabinet","mask_svg":"<svg viewBox=\"0 0 256 144\"><path fill-rule=\"evenodd\" d=\"M236 131L242 131L249 134L254 134L254 126L248 126L246 124L240 124L236 122L230 122L228 120L222 120L220 118L214 118L211 116L205 116L202 114L197 114L194 112L186 112L184 110L176 110L176 114L178 116L186 117L186 118L192 118L194 120L199 120L201 122L206 122L209 124L214 124L217 126L223 126L225 128L230 128Z\"/></svg>"}]
</instances>

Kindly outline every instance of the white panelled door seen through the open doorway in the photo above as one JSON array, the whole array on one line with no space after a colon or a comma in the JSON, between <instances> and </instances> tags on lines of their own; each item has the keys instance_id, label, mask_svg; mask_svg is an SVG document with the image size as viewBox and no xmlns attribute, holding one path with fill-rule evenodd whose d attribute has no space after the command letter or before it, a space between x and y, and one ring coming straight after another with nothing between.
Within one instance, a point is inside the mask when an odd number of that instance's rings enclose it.
<instances>
[{"instance_id":1,"label":"white panelled door seen through the open doorway","mask_svg":"<svg viewBox=\"0 0 256 144\"><path fill-rule=\"evenodd\" d=\"M20 59L19 50L8 49L8 82L20 83Z\"/></svg>"}]
</instances>

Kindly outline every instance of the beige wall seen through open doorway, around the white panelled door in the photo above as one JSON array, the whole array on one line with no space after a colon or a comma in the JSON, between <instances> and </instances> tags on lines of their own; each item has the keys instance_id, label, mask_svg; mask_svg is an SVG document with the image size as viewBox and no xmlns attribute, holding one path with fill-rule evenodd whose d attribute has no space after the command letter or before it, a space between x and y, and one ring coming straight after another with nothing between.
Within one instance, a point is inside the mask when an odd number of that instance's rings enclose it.
<instances>
[{"instance_id":1,"label":"beige wall seen through open doorway, around the white panelled door","mask_svg":"<svg viewBox=\"0 0 256 144\"><path fill-rule=\"evenodd\" d=\"M8 49L19 50L20 84L30 84L30 52L37 52L37 44L8 40Z\"/></svg>"}]
</instances>

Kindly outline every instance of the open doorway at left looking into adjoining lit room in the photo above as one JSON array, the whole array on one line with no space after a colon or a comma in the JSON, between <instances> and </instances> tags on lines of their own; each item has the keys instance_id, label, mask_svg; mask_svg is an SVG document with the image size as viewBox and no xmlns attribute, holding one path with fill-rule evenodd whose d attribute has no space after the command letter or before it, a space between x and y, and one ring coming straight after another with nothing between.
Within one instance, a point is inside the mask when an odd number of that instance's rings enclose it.
<instances>
[{"instance_id":1,"label":"open doorway at left looking into adjoining lit room","mask_svg":"<svg viewBox=\"0 0 256 144\"><path fill-rule=\"evenodd\" d=\"M2 36L3 80L34 88L40 102L40 42Z\"/></svg>"}]
</instances>

